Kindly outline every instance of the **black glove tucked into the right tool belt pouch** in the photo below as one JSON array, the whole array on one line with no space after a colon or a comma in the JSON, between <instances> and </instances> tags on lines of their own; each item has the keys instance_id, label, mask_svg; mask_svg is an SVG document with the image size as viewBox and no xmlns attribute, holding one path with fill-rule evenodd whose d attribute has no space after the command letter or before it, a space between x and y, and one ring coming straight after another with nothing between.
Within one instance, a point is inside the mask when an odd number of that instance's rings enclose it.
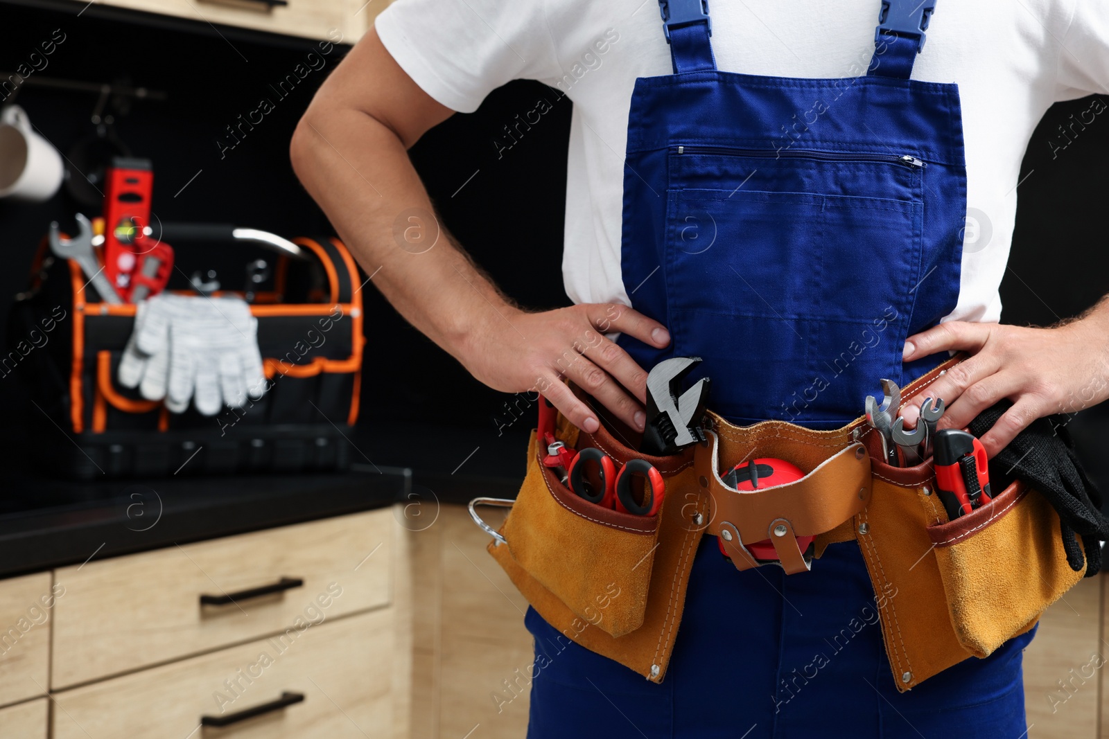
<instances>
[{"instance_id":1,"label":"black glove tucked into the right tool belt pouch","mask_svg":"<svg viewBox=\"0 0 1109 739\"><path fill-rule=\"evenodd\" d=\"M981 438L1013 403L1003 400L970 422ZM1016 479L1040 492L1059 513L1067 564L1078 572L1086 551L1086 577L1101 569L1101 540L1109 540L1109 520L1101 514L1101 493L1086 475L1075 442L1061 418L1037 419L989 462L990 487L1000 493ZM1082 537L1079 547L1076 534Z\"/></svg>"}]
</instances>

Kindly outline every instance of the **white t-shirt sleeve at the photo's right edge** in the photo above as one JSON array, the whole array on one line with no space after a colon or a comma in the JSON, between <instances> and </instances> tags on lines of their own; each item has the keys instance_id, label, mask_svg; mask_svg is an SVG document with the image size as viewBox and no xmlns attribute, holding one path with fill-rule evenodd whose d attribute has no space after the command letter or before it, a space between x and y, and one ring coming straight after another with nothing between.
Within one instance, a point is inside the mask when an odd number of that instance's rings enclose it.
<instances>
[{"instance_id":1,"label":"white t-shirt sleeve at the photo's right edge","mask_svg":"<svg viewBox=\"0 0 1109 739\"><path fill-rule=\"evenodd\" d=\"M1109 2L1074 0L1062 37L1056 94L1059 100L1109 92Z\"/></svg>"}]
</instances>

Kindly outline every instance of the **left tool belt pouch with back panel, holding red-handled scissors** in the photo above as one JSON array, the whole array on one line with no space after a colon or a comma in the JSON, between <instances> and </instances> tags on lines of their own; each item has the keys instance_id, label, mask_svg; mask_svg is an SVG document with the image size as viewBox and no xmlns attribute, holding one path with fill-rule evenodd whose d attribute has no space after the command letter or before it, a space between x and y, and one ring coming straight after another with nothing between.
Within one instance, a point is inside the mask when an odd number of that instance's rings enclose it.
<instances>
[{"instance_id":1,"label":"left tool belt pouch with back panel, holding red-handled scissors","mask_svg":"<svg viewBox=\"0 0 1109 739\"><path fill-rule=\"evenodd\" d=\"M563 637L661 682L685 606L693 554L704 534L698 522L709 513L708 495L693 471L693 450L643 455L632 448L630 429L602 425L590 434L561 414L554 434L579 450L597 448L617 465L630 459L653 464L665 481L658 515L599 513L598 506L570 494L543 468L532 433L527 476L500 527L505 543L495 538L487 548Z\"/></svg>"}]
</instances>

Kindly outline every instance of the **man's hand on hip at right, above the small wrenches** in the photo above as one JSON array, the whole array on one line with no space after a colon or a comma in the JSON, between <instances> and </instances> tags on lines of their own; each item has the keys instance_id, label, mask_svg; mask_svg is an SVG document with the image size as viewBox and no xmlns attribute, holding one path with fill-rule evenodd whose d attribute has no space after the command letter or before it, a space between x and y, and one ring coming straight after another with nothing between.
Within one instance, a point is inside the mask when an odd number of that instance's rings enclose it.
<instances>
[{"instance_id":1,"label":"man's hand on hip at right, above the small wrenches","mask_svg":"<svg viewBox=\"0 0 1109 739\"><path fill-rule=\"evenodd\" d=\"M994 456L1036 419L1100 403L1109 398L1107 305L1055 328L950 321L910 336L905 361L945 350L971 357L907 401L902 415L915 424L925 398L943 398L947 411L938 428L963 429L1007 398L1013 408L981 438Z\"/></svg>"}]
</instances>

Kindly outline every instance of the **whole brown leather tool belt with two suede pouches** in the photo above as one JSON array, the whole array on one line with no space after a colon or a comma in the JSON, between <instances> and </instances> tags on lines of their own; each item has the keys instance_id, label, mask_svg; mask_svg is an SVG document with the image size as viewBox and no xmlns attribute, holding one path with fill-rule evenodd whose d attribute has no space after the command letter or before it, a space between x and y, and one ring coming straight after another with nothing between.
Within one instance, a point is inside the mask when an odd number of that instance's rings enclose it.
<instances>
[{"instance_id":1,"label":"whole brown leather tool belt with two suede pouches","mask_svg":"<svg viewBox=\"0 0 1109 739\"><path fill-rule=\"evenodd\" d=\"M937 367L903 396L960 360ZM801 577L818 575L806 574L811 558L798 536L815 536L815 557L828 544L856 540L903 691L1032 628L1083 574L1068 566L1058 514L1039 493L1016 482L948 521L930 458L913 468L885 464L863 418L813 431L784 421L736 427L710 412L705 442L672 456L634 451L639 434L623 425L590 434L559 415L556 435L571 448L596 447L618 464L651 462L665 480L662 509L631 515L574 495L542 464L532 433L515 504L478 499L471 513L481 503L512 505L488 550L521 594L566 638L654 682L665 675L705 533L721 537L739 569L767 564L747 545L769 538L779 557L773 564ZM722 469L763 456L788 460L805 475L751 492L721 480ZM999 556L1019 566L983 566Z\"/></svg>"}]
</instances>

